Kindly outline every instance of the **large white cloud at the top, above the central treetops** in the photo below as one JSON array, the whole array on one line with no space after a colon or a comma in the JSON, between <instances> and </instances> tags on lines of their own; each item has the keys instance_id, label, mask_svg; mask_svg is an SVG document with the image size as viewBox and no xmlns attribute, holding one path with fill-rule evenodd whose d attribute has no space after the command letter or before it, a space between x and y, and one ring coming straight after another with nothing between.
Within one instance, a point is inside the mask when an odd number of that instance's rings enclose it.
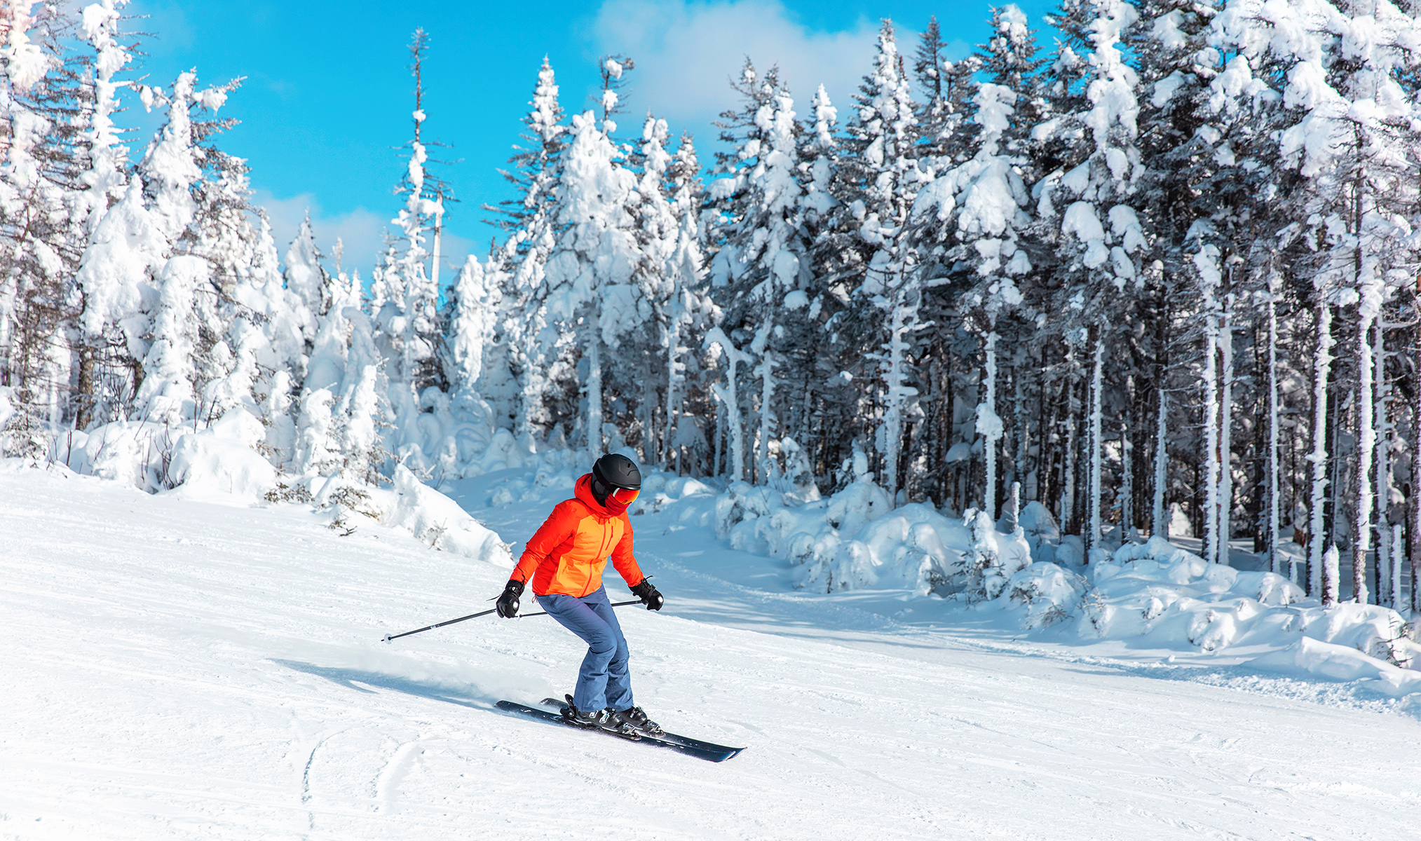
<instances>
[{"instance_id":1,"label":"large white cloud at the top, above the central treetops","mask_svg":"<svg viewBox=\"0 0 1421 841\"><path fill-rule=\"evenodd\" d=\"M877 34L878 21L867 18L847 31L810 30L779 0L607 0L593 24L600 51L637 63L634 112L696 122L735 104L728 81L746 55L762 71L779 65L801 115L823 84L845 119L850 97L871 68Z\"/></svg>"}]
</instances>

